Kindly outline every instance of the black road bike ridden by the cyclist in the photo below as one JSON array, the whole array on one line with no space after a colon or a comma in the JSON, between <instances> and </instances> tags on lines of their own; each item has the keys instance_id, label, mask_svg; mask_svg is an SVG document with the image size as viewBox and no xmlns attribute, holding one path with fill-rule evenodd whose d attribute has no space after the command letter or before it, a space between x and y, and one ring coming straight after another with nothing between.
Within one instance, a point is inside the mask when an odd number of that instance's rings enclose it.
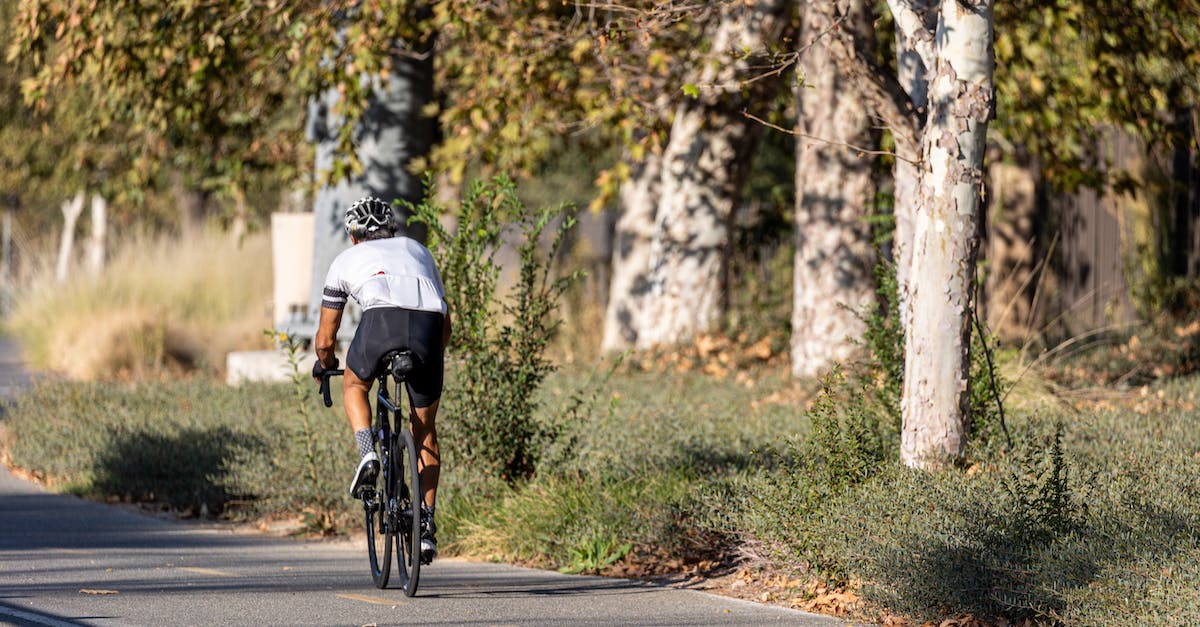
<instances>
[{"instance_id":1,"label":"black road bike ridden by the cyclist","mask_svg":"<svg viewBox=\"0 0 1200 627\"><path fill-rule=\"evenodd\" d=\"M421 478L416 444L409 430L408 417L400 401L407 389L404 382L415 369L413 353L392 351L383 357L377 377L374 404L376 453L379 455L379 480L366 485L359 497L367 527L367 556L376 587L388 586L391 574L391 548L396 547L396 562L404 596L416 595L421 572ZM320 377L320 394L325 407L332 407L329 380L344 370L326 370ZM389 394L395 384L395 396ZM396 402L392 402L395 398Z\"/></svg>"}]
</instances>

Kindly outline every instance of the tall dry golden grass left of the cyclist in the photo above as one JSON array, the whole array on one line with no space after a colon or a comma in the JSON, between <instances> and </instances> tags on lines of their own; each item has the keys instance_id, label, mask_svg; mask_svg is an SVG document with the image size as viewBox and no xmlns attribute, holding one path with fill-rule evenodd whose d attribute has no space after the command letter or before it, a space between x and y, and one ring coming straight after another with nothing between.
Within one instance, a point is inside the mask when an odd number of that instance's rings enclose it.
<instances>
[{"instance_id":1,"label":"tall dry golden grass left of the cyclist","mask_svg":"<svg viewBox=\"0 0 1200 627\"><path fill-rule=\"evenodd\" d=\"M14 291L7 330L31 368L73 380L217 374L229 351L264 345L270 259L265 233L132 235L96 276L74 269L58 283L41 264Z\"/></svg>"}]
</instances>

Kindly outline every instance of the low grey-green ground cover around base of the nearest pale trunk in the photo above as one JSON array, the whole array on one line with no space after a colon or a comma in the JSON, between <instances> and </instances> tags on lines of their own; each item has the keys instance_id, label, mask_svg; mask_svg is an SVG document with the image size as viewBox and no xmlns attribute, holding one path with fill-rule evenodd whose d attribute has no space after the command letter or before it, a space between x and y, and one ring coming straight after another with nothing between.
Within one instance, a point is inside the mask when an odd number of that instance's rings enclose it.
<instances>
[{"instance_id":1,"label":"low grey-green ground cover around base of the nearest pale trunk","mask_svg":"<svg viewBox=\"0 0 1200 627\"><path fill-rule=\"evenodd\" d=\"M775 568L860 581L874 617L1193 623L1200 381L1163 392L1175 408L1018 414L970 472L884 464L839 488L798 447L738 485L732 525Z\"/></svg>"}]
</instances>

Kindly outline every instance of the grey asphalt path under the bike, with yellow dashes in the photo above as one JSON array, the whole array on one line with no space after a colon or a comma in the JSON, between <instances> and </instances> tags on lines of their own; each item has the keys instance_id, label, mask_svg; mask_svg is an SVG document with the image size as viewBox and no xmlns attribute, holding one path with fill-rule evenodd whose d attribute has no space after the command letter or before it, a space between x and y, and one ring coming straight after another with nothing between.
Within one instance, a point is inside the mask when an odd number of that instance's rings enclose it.
<instances>
[{"instance_id":1,"label":"grey asphalt path under the bike, with yellow dashes","mask_svg":"<svg viewBox=\"0 0 1200 627\"><path fill-rule=\"evenodd\" d=\"M24 375L0 340L0 393ZM16 365L14 365L16 364ZM2 420L2 417L0 417ZM415 598L352 542L163 520L0 466L0 625L844 625L691 590L438 560Z\"/></svg>"}]
</instances>

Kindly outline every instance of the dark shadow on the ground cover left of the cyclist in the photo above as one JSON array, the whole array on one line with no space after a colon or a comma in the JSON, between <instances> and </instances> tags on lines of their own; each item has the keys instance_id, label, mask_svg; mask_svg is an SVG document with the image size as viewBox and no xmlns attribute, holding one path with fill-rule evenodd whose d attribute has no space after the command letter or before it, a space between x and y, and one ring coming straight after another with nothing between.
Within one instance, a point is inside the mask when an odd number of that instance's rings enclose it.
<instances>
[{"instance_id":1,"label":"dark shadow on the ground cover left of the cyclist","mask_svg":"<svg viewBox=\"0 0 1200 627\"><path fill-rule=\"evenodd\" d=\"M260 440L228 426L115 432L96 460L94 489L101 496L218 514L240 496L232 490L232 465L247 449L263 448Z\"/></svg>"}]
</instances>

